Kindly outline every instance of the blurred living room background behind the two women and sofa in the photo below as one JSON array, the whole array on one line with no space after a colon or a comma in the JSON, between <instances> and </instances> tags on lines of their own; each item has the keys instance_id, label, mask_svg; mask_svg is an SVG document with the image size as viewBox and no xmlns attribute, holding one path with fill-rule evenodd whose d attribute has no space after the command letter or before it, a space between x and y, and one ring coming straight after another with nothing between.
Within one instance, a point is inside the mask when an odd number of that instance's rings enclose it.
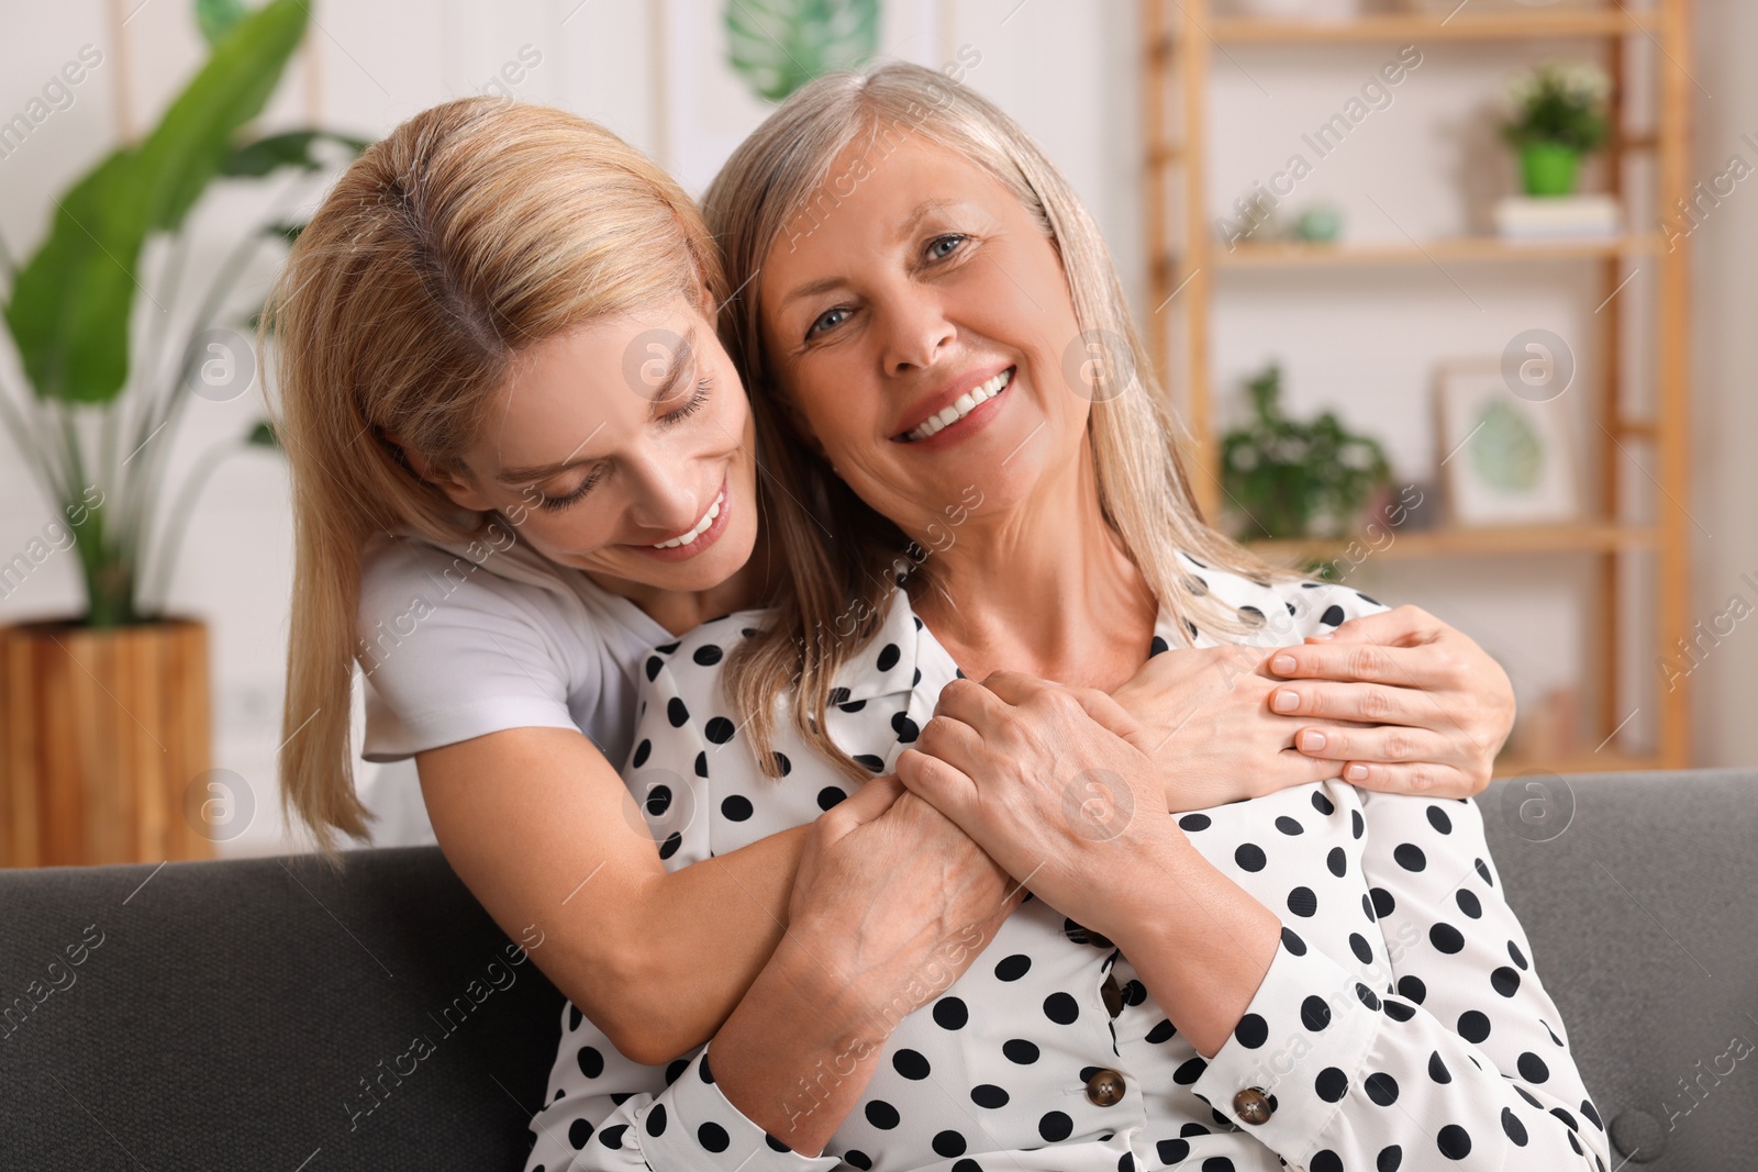
<instances>
[{"instance_id":1,"label":"blurred living room background behind the two women and sofa","mask_svg":"<svg viewBox=\"0 0 1758 1172\"><path fill-rule=\"evenodd\" d=\"M355 149L496 93L700 193L774 97L875 54L999 102L1085 197L1218 524L1501 661L1500 773L1758 764L1758 7L292 9L81 0L0 42L0 863L304 849L253 315Z\"/></svg>"}]
</instances>

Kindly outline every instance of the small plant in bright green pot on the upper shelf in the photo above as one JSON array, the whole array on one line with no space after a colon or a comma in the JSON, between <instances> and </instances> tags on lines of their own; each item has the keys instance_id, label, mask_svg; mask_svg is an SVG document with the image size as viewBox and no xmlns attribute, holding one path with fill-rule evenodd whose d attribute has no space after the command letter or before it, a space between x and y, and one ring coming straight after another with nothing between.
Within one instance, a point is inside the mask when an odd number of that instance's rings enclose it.
<instances>
[{"instance_id":1,"label":"small plant in bright green pot on the upper shelf","mask_svg":"<svg viewBox=\"0 0 1758 1172\"><path fill-rule=\"evenodd\" d=\"M1528 195L1573 193L1580 158L1605 142L1610 91L1591 61L1544 61L1508 79L1501 137L1519 151Z\"/></svg>"}]
</instances>

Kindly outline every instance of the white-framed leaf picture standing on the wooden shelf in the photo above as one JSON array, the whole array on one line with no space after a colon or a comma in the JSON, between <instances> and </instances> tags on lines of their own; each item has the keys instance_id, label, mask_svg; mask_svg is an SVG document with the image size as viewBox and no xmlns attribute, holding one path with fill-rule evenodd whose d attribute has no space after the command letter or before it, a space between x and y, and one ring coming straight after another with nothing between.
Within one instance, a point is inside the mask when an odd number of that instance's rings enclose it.
<instances>
[{"instance_id":1,"label":"white-framed leaf picture standing on the wooden shelf","mask_svg":"<svg viewBox=\"0 0 1758 1172\"><path fill-rule=\"evenodd\" d=\"M1515 395L1500 358L1445 362L1435 390L1452 524L1528 525L1580 515L1566 397Z\"/></svg>"}]
</instances>

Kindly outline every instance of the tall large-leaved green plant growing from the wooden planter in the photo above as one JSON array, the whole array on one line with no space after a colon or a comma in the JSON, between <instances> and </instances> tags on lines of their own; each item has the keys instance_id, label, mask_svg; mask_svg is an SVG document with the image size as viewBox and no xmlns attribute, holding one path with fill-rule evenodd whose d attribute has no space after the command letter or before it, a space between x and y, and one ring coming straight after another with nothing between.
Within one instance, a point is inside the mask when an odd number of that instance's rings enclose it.
<instances>
[{"instance_id":1,"label":"tall large-leaved green plant growing from the wooden planter","mask_svg":"<svg viewBox=\"0 0 1758 1172\"><path fill-rule=\"evenodd\" d=\"M214 179L315 172L323 167L315 153L320 142L353 153L366 146L323 130L244 134L304 37L302 0L271 0L257 11L237 0L197 0L195 16L209 42L202 69L139 144L111 151L54 200L37 251L16 271L7 264L5 323L28 392L0 385L0 422L67 518L88 626L149 620L163 604L188 506L222 455L209 453L185 481L178 508L162 518L172 438L213 364L225 367L223 376L239 376L229 364L250 364L253 374L255 355L243 334L214 327L236 309L237 281L257 250L297 235L294 225L253 227L213 272L186 334L174 339L169 318L192 244L190 211ZM148 242L160 235L171 237L167 258L146 274ZM139 330L146 344L137 355L130 332L148 278L155 292L146 313L155 320ZM248 329L248 318L241 315L237 325ZM204 344L216 332L237 343ZM172 341L181 346L172 350ZM236 443L272 445L274 438L258 423ZM142 596L146 573L160 587L156 596Z\"/></svg>"}]
</instances>

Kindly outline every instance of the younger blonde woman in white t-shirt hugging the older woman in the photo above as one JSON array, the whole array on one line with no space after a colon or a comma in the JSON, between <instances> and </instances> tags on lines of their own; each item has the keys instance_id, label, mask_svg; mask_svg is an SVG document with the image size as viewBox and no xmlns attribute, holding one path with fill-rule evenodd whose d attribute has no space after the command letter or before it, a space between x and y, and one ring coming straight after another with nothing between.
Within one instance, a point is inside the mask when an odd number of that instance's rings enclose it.
<instances>
[{"instance_id":1,"label":"younger blonde woman in white t-shirt hugging the older woman","mask_svg":"<svg viewBox=\"0 0 1758 1172\"><path fill-rule=\"evenodd\" d=\"M417 757L452 866L647 1061L700 1045L738 1003L802 852L853 850L789 826L668 870L610 764L633 743L647 648L789 573L758 534L774 506L714 332L724 288L698 209L638 151L563 111L468 98L343 176L271 316L297 518L283 794L323 845L366 835L359 659L367 757ZM1118 676L1120 703L1164 729L1159 808L1345 763L1362 785L1480 789L1512 698L1442 624L1424 617L1433 641L1385 654L1396 710L1348 720L1382 685L1345 652L1396 641L1394 626L1345 624L1348 647L1296 648L1290 671L1213 648ZM1269 712L1271 691L1297 699L1290 715ZM905 866L992 866L944 819L935 833L935 856Z\"/></svg>"}]
</instances>

